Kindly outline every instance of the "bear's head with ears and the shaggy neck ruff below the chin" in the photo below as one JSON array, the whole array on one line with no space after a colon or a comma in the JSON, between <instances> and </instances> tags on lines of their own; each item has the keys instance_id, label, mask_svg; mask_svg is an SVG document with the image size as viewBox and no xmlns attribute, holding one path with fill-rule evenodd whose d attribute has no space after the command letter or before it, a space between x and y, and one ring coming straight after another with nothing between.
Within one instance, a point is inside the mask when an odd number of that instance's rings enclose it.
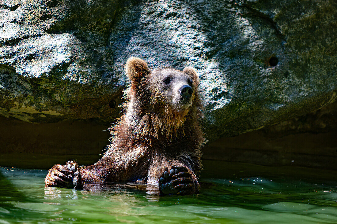
<instances>
[{"instance_id":1,"label":"bear's head with ears and the shaggy neck ruff below the chin","mask_svg":"<svg viewBox=\"0 0 337 224\"><path fill-rule=\"evenodd\" d=\"M202 106L197 87L200 80L194 68L150 70L142 59L129 58L125 72L130 86L124 112L126 119L135 125L144 129L153 126L154 135L163 129L166 135L171 135L186 120L192 122L199 118Z\"/></svg>"}]
</instances>

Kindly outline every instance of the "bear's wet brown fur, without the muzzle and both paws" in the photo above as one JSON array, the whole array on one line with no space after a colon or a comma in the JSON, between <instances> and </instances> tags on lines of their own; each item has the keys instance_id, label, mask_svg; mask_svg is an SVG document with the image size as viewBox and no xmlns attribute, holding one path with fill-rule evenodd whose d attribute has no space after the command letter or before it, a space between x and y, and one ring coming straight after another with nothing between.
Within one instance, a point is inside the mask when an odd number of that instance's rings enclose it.
<instances>
[{"instance_id":1,"label":"bear's wet brown fur, without the muzzle and both paws","mask_svg":"<svg viewBox=\"0 0 337 224\"><path fill-rule=\"evenodd\" d=\"M124 92L123 115L110 128L111 144L104 156L93 165L80 167L82 183L142 180L158 185L165 168L178 165L188 169L197 193L200 186L196 175L201 170L200 148L205 139L199 125L202 105L195 69L186 67L182 72L163 67L151 71L143 60L129 58L125 72L130 85ZM188 108L168 103L175 96L161 90L165 75L193 81ZM173 94L179 94L176 92Z\"/></svg>"}]
</instances>

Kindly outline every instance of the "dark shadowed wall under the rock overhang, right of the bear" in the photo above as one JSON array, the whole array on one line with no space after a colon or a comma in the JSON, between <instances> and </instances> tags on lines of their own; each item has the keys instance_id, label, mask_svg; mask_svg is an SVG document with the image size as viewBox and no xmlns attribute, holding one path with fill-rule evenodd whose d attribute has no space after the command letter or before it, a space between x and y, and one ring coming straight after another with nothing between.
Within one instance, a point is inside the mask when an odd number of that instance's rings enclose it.
<instances>
[{"instance_id":1,"label":"dark shadowed wall under the rock overhang, right of the bear","mask_svg":"<svg viewBox=\"0 0 337 224\"><path fill-rule=\"evenodd\" d=\"M337 101L259 130L219 138L203 148L203 159L336 170L336 114Z\"/></svg>"}]
</instances>

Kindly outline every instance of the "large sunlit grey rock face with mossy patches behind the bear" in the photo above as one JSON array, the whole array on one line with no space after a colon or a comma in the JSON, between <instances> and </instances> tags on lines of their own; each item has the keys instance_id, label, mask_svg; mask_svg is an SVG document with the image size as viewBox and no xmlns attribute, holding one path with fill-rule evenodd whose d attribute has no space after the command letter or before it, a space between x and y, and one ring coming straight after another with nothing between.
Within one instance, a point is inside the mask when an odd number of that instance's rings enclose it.
<instances>
[{"instance_id":1,"label":"large sunlit grey rock face with mossy patches behind the bear","mask_svg":"<svg viewBox=\"0 0 337 224\"><path fill-rule=\"evenodd\" d=\"M0 27L0 114L28 122L113 122L131 56L198 70L210 140L337 96L335 0L2 0Z\"/></svg>"}]
</instances>

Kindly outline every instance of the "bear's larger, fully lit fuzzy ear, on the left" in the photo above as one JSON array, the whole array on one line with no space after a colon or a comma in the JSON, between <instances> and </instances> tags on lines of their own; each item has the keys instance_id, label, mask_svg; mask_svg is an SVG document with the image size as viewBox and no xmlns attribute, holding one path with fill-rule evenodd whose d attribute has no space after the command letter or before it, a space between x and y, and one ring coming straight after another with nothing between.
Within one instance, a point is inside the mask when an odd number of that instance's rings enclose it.
<instances>
[{"instance_id":1,"label":"bear's larger, fully lit fuzzy ear, on the left","mask_svg":"<svg viewBox=\"0 0 337 224\"><path fill-rule=\"evenodd\" d=\"M125 73L131 83L138 84L143 77L151 73L146 62L140 58L129 58L125 64Z\"/></svg>"}]
</instances>

